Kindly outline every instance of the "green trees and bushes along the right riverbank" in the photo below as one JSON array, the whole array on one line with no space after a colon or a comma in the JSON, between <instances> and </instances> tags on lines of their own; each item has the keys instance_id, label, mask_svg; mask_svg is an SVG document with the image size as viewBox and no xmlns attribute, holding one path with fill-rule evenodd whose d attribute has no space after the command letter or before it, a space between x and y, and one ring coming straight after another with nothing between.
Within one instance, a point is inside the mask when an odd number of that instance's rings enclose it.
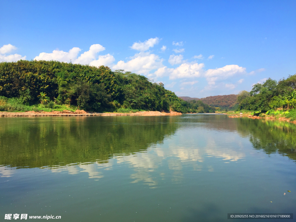
<instances>
[{"instance_id":1,"label":"green trees and bushes along the right riverbank","mask_svg":"<svg viewBox=\"0 0 296 222\"><path fill-rule=\"evenodd\" d=\"M253 110L260 113L273 113L277 110L290 111L287 117L296 110L296 74L279 81L269 78L264 83L257 83L250 92L238 94L238 110Z\"/></svg>"}]
</instances>

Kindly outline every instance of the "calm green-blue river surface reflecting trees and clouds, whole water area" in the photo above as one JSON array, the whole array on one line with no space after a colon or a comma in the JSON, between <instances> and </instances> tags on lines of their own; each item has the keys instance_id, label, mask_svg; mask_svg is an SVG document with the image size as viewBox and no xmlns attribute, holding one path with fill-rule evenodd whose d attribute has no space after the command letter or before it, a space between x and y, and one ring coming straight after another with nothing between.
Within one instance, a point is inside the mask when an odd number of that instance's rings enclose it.
<instances>
[{"instance_id":1,"label":"calm green-blue river surface reflecting trees and clouds, whole water area","mask_svg":"<svg viewBox=\"0 0 296 222\"><path fill-rule=\"evenodd\" d=\"M0 221L296 217L295 148L291 123L226 115L0 118Z\"/></svg>"}]
</instances>

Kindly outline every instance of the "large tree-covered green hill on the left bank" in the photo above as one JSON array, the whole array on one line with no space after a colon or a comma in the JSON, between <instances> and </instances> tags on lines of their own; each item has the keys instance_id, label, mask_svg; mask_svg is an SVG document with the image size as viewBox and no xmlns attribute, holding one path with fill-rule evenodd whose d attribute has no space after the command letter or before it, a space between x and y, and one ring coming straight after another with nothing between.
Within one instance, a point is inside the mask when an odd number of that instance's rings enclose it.
<instances>
[{"instance_id":1,"label":"large tree-covered green hill on the left bank","mask_svg":"<svg viewBox=\"0 0 296 222\"><path fill-rule=\"evenodd\" d=\"M87 111L213 112L202 102L186 102L146 77L109 67L58 61L0 63L0 111L61 107Z\"/></svg>"}]
</instances>

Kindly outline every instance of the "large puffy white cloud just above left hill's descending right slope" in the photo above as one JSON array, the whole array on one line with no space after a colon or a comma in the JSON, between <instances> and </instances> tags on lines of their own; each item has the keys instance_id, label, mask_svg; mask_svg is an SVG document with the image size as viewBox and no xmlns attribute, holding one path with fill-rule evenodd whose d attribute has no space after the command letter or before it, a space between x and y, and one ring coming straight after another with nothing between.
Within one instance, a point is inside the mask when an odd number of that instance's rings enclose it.
<instances>
[{"instance_id":1,"label":"large puffy white cloud just above left hill's descending right slope","mask_svg":"<svg viewBox=\"0 0 296 222\"><path fill-rule=\"evenodd\" d=\"M140 52L131 57L128 62L119 61L112 69L123 69L141 75L148 75L151 70L163 67L163 61L164 59L161 59L158 55Z\"/></svg>"}]
</instances>

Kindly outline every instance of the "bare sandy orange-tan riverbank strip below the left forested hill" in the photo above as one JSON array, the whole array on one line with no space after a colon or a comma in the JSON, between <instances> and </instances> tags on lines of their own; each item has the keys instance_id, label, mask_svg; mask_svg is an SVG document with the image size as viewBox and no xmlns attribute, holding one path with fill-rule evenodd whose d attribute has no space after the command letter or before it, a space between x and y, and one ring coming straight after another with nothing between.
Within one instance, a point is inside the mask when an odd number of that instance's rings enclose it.
<instances>
[{"instance_id":1,"label":"bare sandy orange-tan riverbank strip below the left forested hill","mask_svg":"<svg viewBox=\"0 0 296 222\"><path fill-rule=\"evenodd\" d=\"M182 115L181 112L159 112L159 111L140 111L135 113L118 113L118 112L86 112L84 110L61 111L28 111L28 112L0 112L0 117L33 117L33 116L167 116L167 115Z\"/></svg>"}]
</instances>

